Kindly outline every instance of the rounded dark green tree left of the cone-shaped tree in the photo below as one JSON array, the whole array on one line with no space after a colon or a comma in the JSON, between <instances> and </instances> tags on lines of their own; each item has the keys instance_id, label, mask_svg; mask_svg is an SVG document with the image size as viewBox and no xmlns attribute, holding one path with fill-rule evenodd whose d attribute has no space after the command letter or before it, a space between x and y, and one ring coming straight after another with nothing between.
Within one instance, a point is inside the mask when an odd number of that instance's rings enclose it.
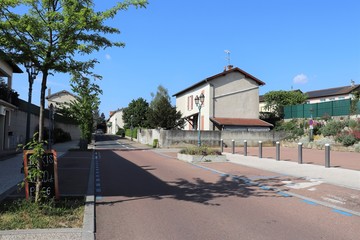
<instances>
[{"instance_id":1,"label":"rounded dark green tree left of the cone-shaped tree","mask_svg":"<svg viewBox=\"0 0 360 240\"><path fill-rule=\"evenodd\" d=\"M145 99L132 100L128 107L123 110L124 128L147 127L146 113L148 109L149 103Z\"/></svg>"}]
</instances>

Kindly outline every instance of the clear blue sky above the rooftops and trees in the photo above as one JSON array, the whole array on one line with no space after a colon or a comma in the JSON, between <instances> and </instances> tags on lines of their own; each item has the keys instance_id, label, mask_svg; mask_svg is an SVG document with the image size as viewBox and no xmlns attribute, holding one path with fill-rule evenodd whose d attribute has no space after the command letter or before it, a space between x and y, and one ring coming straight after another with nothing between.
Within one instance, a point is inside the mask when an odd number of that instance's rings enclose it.
<instances>
[{"instance_id":1,"label":"clear blue sky above the rooftops and trees","mask_svg":"<svg viewBox=\"0 0 360 240\"><path fill-rule=\"evenodd\" d=\"M116 1L95 0L105 9ZM149 0L108 24L112 39L125 48L93 54L100 113L126 107L139 97L151 101L159 85L174 93L223 71L230 63L272 90L311 91L360 83L360 1L358 0ZM13 88L27 99L27 75L15 75ZM48 79L51 92L70 91L69 77ZM34 84L38 104L40 77ZM173 104L175 99L172 99Z\"/></svg>"}]
</instances>

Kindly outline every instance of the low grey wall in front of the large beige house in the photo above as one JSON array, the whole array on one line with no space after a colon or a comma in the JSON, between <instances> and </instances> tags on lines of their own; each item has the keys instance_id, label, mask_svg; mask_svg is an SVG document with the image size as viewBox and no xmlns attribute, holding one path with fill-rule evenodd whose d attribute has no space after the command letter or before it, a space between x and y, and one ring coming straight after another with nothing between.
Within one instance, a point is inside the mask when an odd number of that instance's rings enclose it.
<instances>
[{"instance_id":1,"label":"low grey wall in front of the large beige house","mask_svg":"<svg viewBox=\"0 0 360 240\"><path fill-rule=\"evenodd\" d=\"M244 131L200 131L201 144L207 146L220 146L221 139L227 146L243 146L244 140L249 147L257 146L259 141L263 145L273 145L286 137L285 132L244 132ZM198 131L141 129L138 131L138 142L152 145L154 139L158 139L158 147L184 147L198 144Z\"/></svg>"}]
</instances>

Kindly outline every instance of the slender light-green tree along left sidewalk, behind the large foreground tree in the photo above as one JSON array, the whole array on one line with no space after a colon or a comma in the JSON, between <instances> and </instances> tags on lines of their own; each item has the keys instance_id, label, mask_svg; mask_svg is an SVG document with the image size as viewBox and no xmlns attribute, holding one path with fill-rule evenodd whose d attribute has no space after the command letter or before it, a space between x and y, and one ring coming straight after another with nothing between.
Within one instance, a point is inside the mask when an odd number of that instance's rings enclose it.
<instances>
[{"instance_id":1,"label":"slender light-green tree along left sidewalk, behind the large foreground tree","mask_svg":"<svg viewBox=\"0 0 360 240\"><path fill-rule=\"evenodd\" d=\"M87 76L73 72L71 79L71 88L77 97L70 103L65 103L61 112L75 119L80 125L82 149L91 141L91 135L94 130L94 113L98 111L102 94L100 87L92 83ZM87 148L87 147L86 147Z\"/></svg>"}]
</instances>

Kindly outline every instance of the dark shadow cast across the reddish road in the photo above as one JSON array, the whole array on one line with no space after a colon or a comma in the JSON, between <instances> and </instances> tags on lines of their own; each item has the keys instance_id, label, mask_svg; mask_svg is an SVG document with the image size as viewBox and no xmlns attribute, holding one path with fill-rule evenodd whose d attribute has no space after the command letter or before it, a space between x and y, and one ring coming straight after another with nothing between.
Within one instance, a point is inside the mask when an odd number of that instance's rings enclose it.
<instances>
[{"instance_id":1,"label":"dark shadow cast across the reddish road","mask_svg":"<svg viewBox=\"0 0 360 240\"><path fill-rule=\"evenodd\" d=\"M269 193L257 186L247 184L244 176L231 179L219 176L216 182L201 178L176 179L165 182L149 171L156 168L149 165L139 166L109 150L101 151L101 196L121 197L119 200L99 201L98 205L115 204L133 200L152 198L176 199L206 205L218 205L213 200L224 197L282 197L275 192ZM105 174L106 173L106 174Z\"/></svg>"}]
</instances>

